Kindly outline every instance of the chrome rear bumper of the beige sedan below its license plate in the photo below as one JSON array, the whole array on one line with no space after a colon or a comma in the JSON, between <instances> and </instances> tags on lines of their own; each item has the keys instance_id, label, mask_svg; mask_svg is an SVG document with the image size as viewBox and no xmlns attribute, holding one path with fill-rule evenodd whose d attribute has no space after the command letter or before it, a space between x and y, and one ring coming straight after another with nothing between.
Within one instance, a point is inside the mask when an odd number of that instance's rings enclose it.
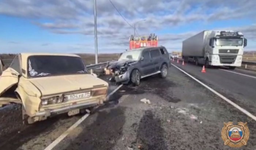
<instances>
[{"instance_id":1,"label":"chrome rear bumper of the beige sedan below its license plate","mask_svg":"<svg viewBox=\"0 0 256 150\"><path fill-rule=\"evenodd\" d=\"M70 105L70 106L66 106L66 107L62 107L62 108L56 108L56 109L45 109L42 111L38 111L34 117L50 117L53 115L58 115L58 114L62 114L71 110L75 110L75 109L83 109L83 108L88 108L88 107L93 107L93 106L97 106L99 105L101 102L103 102L103 99L99 99L99 100L94 100L94 101L90 101L90 102L86 102L86 103L79 103L79 104L74 104L74 105Z\"/></svg>"}]
</instances>

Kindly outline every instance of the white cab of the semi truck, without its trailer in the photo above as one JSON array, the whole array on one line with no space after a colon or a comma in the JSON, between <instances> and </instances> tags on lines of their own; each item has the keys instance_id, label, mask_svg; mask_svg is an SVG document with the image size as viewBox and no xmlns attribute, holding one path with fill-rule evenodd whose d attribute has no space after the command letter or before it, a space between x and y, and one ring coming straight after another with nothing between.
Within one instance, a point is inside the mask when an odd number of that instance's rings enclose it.
<instances>
[{"instance_id":1,"label":"white cab of the semi truck, without its trailer","mask_svg":"<svg viewBox=\"0 0 256 150\"><path fill-rule=\"evenodd\" d=\"M215 35L214 35L215 34ZM205 52L206 67L227 66L234 69L242 64L247 39L241 32L221 31L210 36Z\"/></svg>"}]
</instances>

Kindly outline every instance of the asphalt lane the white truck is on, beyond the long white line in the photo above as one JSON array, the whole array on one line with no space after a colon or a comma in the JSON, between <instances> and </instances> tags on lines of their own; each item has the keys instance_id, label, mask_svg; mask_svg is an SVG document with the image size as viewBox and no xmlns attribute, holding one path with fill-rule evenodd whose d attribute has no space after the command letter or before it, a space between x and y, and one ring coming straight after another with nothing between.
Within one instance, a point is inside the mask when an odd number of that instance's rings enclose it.
<instances>
[{"instance_id":1,"label":"asphalt lane the white truck is on, beyond the long white line","mask_svg":"<svg viewBox=\"0 0 256 150\"><path fill-rule=\"evenodd\" d=\"M256 115L255 71L242 69L228 70L226 68L219 67L206 68L206 73L202 73L202 66L196 66L190 63L182 66L181 62L173 62L173 64L196 77L203 83L206 83L208 86L214 88L214 90L223 94L242 108L245 108L253 115Z\"/></svg>"}]
</instances>

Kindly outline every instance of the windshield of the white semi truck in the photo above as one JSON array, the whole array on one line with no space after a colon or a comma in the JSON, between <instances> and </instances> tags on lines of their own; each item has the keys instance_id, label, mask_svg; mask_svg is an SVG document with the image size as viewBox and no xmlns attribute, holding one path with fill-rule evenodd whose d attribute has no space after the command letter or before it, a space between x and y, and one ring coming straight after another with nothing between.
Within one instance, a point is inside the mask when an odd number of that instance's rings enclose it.
<instances>
[{"instance_id":1,"label":"windshield of the white semi truck","mask_svg":"<svg viewBox=\"0 0 256 150\"><path fill-rule=\"evenodd\" d=\"M220 38L216 40L217 46L242 46L243 39L235 39L235 38Z\"/></svg>"}]
</instances>

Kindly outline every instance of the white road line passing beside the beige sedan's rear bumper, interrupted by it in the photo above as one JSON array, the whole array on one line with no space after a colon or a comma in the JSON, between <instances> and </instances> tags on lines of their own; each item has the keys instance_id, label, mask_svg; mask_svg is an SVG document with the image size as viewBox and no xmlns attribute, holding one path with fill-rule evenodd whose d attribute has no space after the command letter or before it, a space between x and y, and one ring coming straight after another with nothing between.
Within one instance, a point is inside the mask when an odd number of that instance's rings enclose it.
<instances>
[{"instance_id":1,"label":"white road line passing beside the beige sedan's rear bumper, interrupted by it","mask_svg":"<svg viewBox=\"0 0 256 150\"><path fill-rule=\"evenodd\" d=\"M111 95L114 94L114 92L116 92L119 88L121 88L123 86L123 84L121 84L120 86L118 86L114 91L112 91L108 96L107 99L109 99L109 97ZM74 125L72 125L71 127L68 128L68 130L66 130L63 134L61 134L57 139L55 139L52 143L50 143L50 145L48 145L44 150L52 150L57 144L59 144L65 137L67 137L67 135L69 133L71 133L72 130L74 130L78 125L80 125L80 123L82 123L87 117L89 116L89 114L85 114L82 118L80 118Z\"/></svg>"}]
</instances>

